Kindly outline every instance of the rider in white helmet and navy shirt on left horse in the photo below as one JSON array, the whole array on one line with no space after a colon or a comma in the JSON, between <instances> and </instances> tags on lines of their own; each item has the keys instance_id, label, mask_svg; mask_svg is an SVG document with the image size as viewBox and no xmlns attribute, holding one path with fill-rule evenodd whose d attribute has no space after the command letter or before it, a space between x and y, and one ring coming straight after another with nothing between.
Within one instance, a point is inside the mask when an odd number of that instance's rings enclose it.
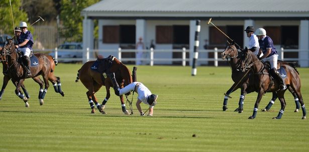
<instances>
[{"instance_id":1,"label":"rider in white helmet and navy shirt on left horse","mask_svg":"<svg viewBox=\"0 0 309 152\"><path fill-rule=\"evenodd\" d=\"M31 71L29 68L30 64L30 59L29 55L32 50L32 45L33 45L33 37L31 32L27 29L27 23L25 21L21 21L19 24L22 33L20 37L17 39L18 40L18 45L15 45L16 48L18 48L19 51L22 51L24 56L22 57L23 59L23 65L26 69L26 76L30 77L31 76Z\"/></svg>"}]
</instances>

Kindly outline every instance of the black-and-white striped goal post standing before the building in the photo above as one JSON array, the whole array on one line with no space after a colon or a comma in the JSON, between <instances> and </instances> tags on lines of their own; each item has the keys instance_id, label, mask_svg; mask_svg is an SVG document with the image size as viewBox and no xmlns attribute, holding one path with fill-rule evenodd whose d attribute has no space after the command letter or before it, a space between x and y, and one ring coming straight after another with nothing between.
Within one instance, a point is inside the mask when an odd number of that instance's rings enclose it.
<instances>
[{"instance_id":1,"label":"black-and-white striped goal post standing before the building","mask_svg":"<svg viewBox=\"0 0 309 152\"><path fill-rule=\"evenodd\" d=\"M196 75L196 71L197 71L196 65L197 65L197 58L198 58L198 46L199 46L198 33L200 31L200 20L196 20L195 25L196 25L196 30L194 33L194 47L193 47L194 55L193 55L193 60L192 60L192 71L191 71L192 76Z\"/></svg>"}]
</instances>

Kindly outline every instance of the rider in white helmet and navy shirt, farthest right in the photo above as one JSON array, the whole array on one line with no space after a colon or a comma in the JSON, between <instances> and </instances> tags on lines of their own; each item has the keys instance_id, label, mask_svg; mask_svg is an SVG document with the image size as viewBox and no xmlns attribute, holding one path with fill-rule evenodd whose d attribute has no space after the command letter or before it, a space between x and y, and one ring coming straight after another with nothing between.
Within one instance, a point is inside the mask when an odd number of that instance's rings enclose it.
<instances>
[{"instance_id":1,"label":"rider in white helmet and navy shirt, farthest right","mask_svg":"<svg viewBox=\"0 0 309 152\"><path fill-rule=\"evenodd\" d=\"M260 45L258 56L263 52L263 56L259 57L259 59L270 62L270 73L280 82L280 89L286 89L286 85L277 71L278 53L272 39L266 35L266 30L264 28L258 28L255 33L259 38Z\"/></svg>"}]
</instances>

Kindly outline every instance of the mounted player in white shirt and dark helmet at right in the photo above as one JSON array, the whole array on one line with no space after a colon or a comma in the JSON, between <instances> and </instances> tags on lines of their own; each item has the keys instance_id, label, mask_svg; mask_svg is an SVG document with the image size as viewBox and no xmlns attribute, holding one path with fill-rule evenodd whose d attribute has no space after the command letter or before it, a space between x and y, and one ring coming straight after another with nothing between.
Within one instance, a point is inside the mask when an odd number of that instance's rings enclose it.
<instances>
[{"instance_id":1,"label":"mounted player in white shirt and dark helmet at right","mask_svg":"<svg viewBox=\"0 0 309 152\"><path fill-rule=\"evenodd\" d=\"M254 34L254 28L253 26L247 26L245 29L247 33L247 37L249 37L249 44L248 48L255 54L257 55L259 53L260 45L259 45L259 39L258 37Z\"/></svg>"}]
</instances>

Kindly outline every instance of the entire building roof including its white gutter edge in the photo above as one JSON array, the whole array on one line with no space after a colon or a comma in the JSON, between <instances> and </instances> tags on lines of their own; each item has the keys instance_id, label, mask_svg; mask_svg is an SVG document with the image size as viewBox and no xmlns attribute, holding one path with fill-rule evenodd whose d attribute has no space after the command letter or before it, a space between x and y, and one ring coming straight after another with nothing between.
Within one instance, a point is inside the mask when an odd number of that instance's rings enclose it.
<instances>
[{"instance_id":1,"label":"entire building roof including its white gutter edge","mask_svg":"<svg viewBox=\"0 0 309 152\"><path fill-rule=\"evenodd\" d=\"M309 0L101 0L88 17L309 17Z\"/></svg>"}]
</instances>

